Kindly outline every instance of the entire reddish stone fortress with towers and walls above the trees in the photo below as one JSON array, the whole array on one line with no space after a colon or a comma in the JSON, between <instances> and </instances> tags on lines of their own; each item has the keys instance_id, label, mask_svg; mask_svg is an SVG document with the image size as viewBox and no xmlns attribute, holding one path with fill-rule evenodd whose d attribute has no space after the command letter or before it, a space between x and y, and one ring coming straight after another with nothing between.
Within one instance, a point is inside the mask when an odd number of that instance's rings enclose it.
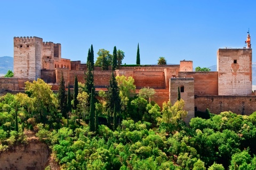
<instances>
[{"instance_id":1,"label":"entire reddish stone fortress with towers and walls above the trees","mask_svg":"<svg viewBox=\"0 0 256 170\"><path fill-rule=\"evenodd\" d=\"M247 48L220 48L217 52L217 71L195 72L193 61L180 61L179 65L121 66L116 75L133 77L138 92L143 87L154 88L153 100L162 103L177 101L178 87L188 111L186 122L195 111L218 114L231 111L249 115L256 111L256 96L252 92L252 49L250 34ZM0 78L0 92L24 91L25 82L43 79L58 90L61 71L66 84L74 86L74 78L84 83L86 64L61 58L61 44L43 42L38 37L14 37L14 78ZM111 69L102 71L94 66L96 91L107 90ZM2 90L1 90L2 89Z\"/></svg>"}]
</instances>

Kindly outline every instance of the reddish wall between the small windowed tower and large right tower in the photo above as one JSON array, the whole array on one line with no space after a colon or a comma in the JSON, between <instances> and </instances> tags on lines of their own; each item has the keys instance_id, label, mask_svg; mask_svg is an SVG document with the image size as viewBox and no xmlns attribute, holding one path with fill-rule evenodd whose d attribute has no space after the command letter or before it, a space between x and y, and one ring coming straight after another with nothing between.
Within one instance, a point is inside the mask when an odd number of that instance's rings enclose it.
<instances>
[{"instance_id":1,"label":"reddish wall between the small windowed tower and large right tower","mask_svg":"<svg viewBox=\"0 0 256 170\"><path fill-rule=\"evenodd\" d=\"M218 95L218 72L179 72L179 78L194 78L195 95Z\"/></svg>"}]
</instances>

